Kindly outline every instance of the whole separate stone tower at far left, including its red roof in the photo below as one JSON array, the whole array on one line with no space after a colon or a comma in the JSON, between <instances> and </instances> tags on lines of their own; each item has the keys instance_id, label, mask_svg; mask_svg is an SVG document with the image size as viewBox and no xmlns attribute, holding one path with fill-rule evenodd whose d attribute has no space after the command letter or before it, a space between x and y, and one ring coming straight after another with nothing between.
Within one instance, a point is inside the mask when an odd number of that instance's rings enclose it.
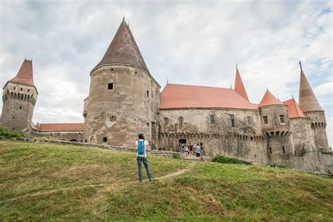
<instances>
[{"instance_id":1,"label":"whole separate stone tower at far left, including its red roof","mask_svg":"<svg viewBox=\"0 0 333 222\"><path fill-rule=\"evenodd\" d=\"M34 86L32 61L24 60L18 74L7 81L2 100L2 124L11 130L30 131L38 91Z\"/></svg>"}]
</instances>

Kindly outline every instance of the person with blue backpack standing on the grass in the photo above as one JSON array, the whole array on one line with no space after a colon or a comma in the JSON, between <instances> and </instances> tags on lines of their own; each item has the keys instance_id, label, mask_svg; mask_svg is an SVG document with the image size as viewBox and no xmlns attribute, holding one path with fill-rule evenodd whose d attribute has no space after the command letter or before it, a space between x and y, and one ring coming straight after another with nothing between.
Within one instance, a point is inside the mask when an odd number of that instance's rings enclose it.
<instances>
[{"instance_id":1,"label":"person with blue backpack standing on the grass","mask_svg":"<svg viewBox=\"0 0 333 222\"><path fill-rule=\"evenodd\" d=\"M148 160L147 155L145 154L145 149L148 147L148 141L145 141L143 134L138 135L138 141L136 141L136 148L138 151L136 152L136 162L138 162L138 174L139 174L139 181L142 181L142 169L141 169L141 162L145 165L145 171L147 171L149 181L152 180L152 174L150 174L150 170L148 167Z\"/></svg>"}]
</instances>

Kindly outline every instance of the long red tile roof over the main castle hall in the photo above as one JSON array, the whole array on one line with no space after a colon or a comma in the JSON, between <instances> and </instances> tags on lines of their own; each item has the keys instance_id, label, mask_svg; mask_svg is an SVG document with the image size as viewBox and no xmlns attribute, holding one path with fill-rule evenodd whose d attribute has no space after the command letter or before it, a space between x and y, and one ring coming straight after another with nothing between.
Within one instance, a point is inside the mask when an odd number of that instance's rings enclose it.
<instances>
[{"instance_id":1,"label":"long red tile roof over the main castle hall","mask_svg":"<svg viewBox=\"0 0 333 222\"><path fill-rule=\"evenodd\" d=\"M161 93L161 109L176 108L236 108L258 109L233 89L166 84Z\"/></svg>"}]
</instances>

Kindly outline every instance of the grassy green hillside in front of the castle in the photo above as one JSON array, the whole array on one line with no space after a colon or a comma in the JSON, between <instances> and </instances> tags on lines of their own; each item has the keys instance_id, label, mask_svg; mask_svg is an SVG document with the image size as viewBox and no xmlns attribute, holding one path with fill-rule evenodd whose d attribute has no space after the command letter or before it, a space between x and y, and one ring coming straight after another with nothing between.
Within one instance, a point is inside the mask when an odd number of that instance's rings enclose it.
<instances>
[{"instance_id":1,"label":"grassy green hillside in front of the castle","mask_svg":"<svg viewBox=\"0 0 333 222\"><path fill-rule=\"evenodd\" d=\"M267 166L148 159L155 180L139 183L130 152L0 141L0 221L333 218L332 178Z\"/></svg>"}]
</instances>

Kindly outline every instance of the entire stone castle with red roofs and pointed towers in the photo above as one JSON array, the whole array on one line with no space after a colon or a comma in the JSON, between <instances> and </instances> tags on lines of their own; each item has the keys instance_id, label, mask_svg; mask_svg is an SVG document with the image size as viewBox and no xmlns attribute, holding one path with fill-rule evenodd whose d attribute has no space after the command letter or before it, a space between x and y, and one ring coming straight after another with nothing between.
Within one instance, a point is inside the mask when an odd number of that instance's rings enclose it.
<instances>
[{"instance_id":1,"label":"entire stone castle with red roofs and pointed towers","mask_svg":"<svg viewBox=\"0 0 333 222\"><path fill-rule=\"evenodd\" d=\"M32 61L24 60L4 86L2 126L31 136L121 147L133 147L143 133L151 149L178 151L180 143L199 143L209 157L333 174L325 111L302 67L299 104L294 98L280 102L268 90L261 103L250 103L237 67L235 89L168 83L160 92L123 20L90 77L84 123L33 124L38 91Z\"/></svg>"}]
</instances>

